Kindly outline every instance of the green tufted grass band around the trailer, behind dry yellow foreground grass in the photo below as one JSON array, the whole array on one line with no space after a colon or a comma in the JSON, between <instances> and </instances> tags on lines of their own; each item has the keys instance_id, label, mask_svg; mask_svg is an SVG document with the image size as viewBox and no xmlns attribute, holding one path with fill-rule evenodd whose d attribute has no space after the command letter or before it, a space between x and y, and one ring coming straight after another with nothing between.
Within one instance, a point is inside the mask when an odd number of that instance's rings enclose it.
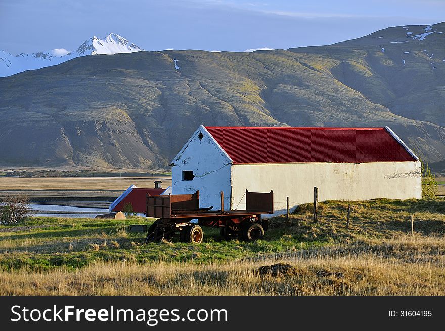
<instances>
[{"instance_id":1,"label":"green tufted grass band around the trailer, behind dry yellow foreground grass","mask_svg":"<svg viewBox=\"0 0 445 331\"><path fill-rule=\"evenodd\" d=\"M383 240L411 233L414 214L416 236L442 236L445 231L445 200L386 200L351 202L350 226L346 228L347 203L319 204L319 221L312 220L312 205L304 204L288 223L280 216L270 220L263 240L225 241L218 229L204 228L200 245L161 241L145 244L145 233L131 233L129 224L150 225L153 219L118 220L32 217L20 232L0 232L0 268L23 267L49 270L64 266L82 268L91 262L132 261L219 263L248 257L265 257L358 240ZM22 226L22 225L20 225ZM8 229L0 226L0 230Z\"/></svg>"}]
</instances>

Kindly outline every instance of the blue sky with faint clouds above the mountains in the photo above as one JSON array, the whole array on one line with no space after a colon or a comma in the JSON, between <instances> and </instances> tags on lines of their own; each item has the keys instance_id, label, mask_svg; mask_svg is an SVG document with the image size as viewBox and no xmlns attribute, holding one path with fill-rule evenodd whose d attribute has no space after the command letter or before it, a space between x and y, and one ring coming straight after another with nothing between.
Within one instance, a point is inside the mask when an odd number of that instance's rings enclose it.
<instances>
[{"instance_id":1,"label":"blue sky with faint clouds above the mountains","mask_svg":"<svg viewBox=\"0 0 445 331\"><path fill-rule=\"evenodd\" d=\"M147 51L327 45L445 20L445 0L0 0L0 49L75 51L117 33Z\"/></svg>"}]
</instances>

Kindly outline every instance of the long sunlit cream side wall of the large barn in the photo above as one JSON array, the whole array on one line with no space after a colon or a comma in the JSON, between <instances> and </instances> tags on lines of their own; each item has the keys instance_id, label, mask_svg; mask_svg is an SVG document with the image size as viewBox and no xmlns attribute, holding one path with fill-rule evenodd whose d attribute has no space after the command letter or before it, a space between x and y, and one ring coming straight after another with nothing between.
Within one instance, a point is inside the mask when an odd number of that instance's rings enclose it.
<instances>
[{"instance_id":1,"label":"long sunlit cream side wall of the large barn","mask_svg":"<svg viewBox=\"0 0 445 331\"><path fill-rule=\"evenodd\" d=\"M231 169L233 209L245 209L245 191L274 191L275 215L314 201L422 198L420 162L239 164Z\"/></svg>"}]
</instances>

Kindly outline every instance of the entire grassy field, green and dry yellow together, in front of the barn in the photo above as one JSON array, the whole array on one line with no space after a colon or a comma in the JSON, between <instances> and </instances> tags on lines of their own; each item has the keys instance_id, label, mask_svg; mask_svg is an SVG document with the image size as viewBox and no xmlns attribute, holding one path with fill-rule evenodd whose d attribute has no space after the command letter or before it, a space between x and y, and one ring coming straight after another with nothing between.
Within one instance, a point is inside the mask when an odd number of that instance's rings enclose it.
<instances>
[{"instance_id":1,"label":"entire grassy field, green and dry yellow together, in front of the barn","mask_svg":"<svg viewBox=\"0 0 445 331\"><path fill-rule=\"evenodd\" d=\"M345 202L320 203L317 223L306 204L286 224L271 219L253 243L207 228L201 245L145 244L143 233L126 231L141 218L0 226L0 295L445 295L444 199L351 205L349 228ZM277 262L294 269L258 274Z\"/></svg>"}]
</instances>

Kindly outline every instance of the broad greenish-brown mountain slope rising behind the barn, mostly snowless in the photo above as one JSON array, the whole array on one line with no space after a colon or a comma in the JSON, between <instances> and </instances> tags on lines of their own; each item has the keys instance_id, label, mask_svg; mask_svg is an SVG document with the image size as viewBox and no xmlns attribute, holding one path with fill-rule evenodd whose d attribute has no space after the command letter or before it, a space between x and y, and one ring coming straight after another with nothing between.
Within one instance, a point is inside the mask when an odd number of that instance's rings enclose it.
<instances>
[{"instance_id":1,"label":"broad greenish-brown mountain slope rising behind the barn, mostly snowless","mask_svg":"<svg viewBox=\"0 0 445 331\"><path fill-rule=\"evenodd\" d=\"M1 163L166 167L201 124L387 125L442 161L442 31L445 23L394 27L254 53L94 55L0 78Z\"/></svg>"}]
</instances>

